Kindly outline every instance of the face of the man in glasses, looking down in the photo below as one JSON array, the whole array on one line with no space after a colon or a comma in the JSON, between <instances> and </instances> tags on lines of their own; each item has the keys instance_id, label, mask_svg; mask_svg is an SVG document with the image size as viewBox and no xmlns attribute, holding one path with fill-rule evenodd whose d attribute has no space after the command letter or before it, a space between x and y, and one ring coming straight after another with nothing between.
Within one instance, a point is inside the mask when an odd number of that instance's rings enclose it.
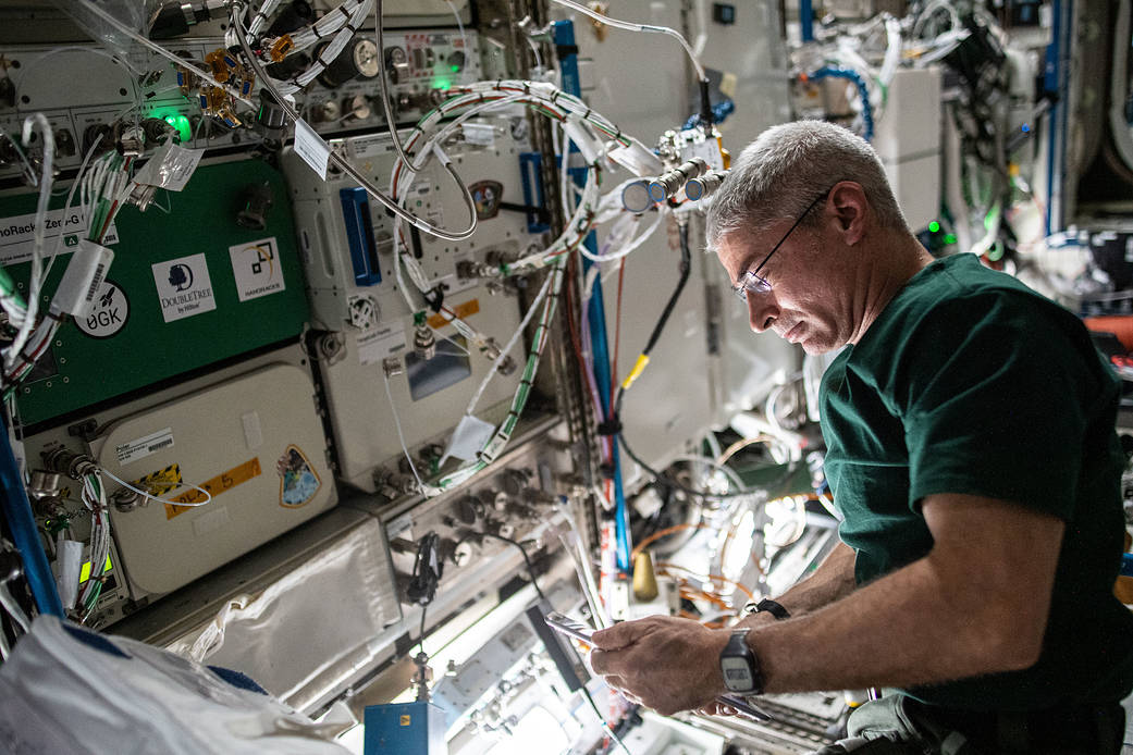
<instances>
[{"instance_id":1,"label":"face of the man in glasses, looking down","mask_svg":"<svg viewBox=\"0 0 1133 755\"><path fill-rule=\"evenodd\" d=\"M725 237L717 256L729 280L735 284L755 269L790 228L786 220L755 235L736 232ZM854 328L853 269L838 264L844 255L825 247L820 229L799 226L787 237L759 271L770 291L747 294L752 331L774 331L809 354L826 353L850 341Z\"/></svg>"}]
</instances>

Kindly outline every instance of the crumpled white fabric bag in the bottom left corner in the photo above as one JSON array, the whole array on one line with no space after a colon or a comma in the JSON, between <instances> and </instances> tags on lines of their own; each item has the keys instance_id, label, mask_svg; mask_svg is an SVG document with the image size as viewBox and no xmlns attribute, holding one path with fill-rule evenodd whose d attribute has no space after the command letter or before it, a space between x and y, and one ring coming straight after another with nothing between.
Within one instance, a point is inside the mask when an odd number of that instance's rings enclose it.
<instances>
[{"instance_id":1,"label":"crumpled white fabric bag in the bottom left corner","mask_svg":"<svg viewBox=\"0 0 1133 755\"><path fill-rule=\"evenodd\" d=\"M0 753L346 755L317 724L207 667L52 616L0 666Z\"/></svg>"}]
</instances>

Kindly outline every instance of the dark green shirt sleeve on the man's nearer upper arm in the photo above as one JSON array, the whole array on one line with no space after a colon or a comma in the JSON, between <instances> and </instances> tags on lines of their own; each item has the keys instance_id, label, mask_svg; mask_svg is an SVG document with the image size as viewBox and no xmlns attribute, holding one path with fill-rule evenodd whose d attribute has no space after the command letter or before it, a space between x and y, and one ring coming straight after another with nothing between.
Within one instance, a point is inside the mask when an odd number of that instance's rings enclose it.
<instances>
[{"instance_id":1,"label":"dark green shirt sleeve on the man's nearer upper arm","mask_svg":"<svg viewBox=\"0 0 1133 755\"><path fill-rule=\"evenodd\" d=\"M1070 518L1101 369L1081 324L1051 302L998 291L934 307L891 375L910 505L968 494Z\"/></svg>"}]
</instances>

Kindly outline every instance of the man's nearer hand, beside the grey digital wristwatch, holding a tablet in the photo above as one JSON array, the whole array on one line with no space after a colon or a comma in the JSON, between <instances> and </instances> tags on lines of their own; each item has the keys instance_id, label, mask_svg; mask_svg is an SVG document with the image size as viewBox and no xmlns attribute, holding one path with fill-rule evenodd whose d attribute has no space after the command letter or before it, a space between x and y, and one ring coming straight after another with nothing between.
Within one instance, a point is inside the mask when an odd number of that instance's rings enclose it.
<instances>
[{"instance_id":1,"label":"man's nearer hand, beside the grey digital wristwatch, holding a tablet","mask_svg":"<svg viewBox=\"0 0 1133 755\"><path fill-rule=\"evenodd\" d=\"M624 621L594 633L590 667L630 700L670 715L724 692L719 653L730 634L668 616Z\"/></svg>"}]
</instances>

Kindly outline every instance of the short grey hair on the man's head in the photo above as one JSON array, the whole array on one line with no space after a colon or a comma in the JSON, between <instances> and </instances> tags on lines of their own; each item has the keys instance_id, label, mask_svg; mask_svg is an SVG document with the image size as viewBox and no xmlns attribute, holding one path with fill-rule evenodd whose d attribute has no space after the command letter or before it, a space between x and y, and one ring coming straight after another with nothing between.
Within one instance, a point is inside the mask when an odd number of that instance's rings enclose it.
<instances>
[{"instance_id":1,"label":"short grey hair on the man's head","mask_svg":"<svg viewBox=\"0 0 1133 755\"><path fill-rule=\"evenodd\" d=\"M717 249L735 231L758 233L795 218L838 181L860 183L881 225L908 232L869 143L841 126L804 120L767 129L740 153L708 208L708 248ZM813 222L808 217L803 225Z\"/></svg>"}]
</instances>

